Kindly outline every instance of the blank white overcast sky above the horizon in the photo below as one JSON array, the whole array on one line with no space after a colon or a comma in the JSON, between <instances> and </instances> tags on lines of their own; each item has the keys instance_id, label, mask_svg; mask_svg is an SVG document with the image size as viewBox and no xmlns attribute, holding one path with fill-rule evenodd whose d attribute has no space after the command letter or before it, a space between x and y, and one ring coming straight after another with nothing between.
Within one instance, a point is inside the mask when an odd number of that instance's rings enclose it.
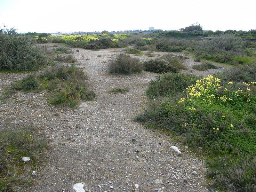
<instances>
[{"instance_id":1,"label":"blank white overcast sky above the horizon","mask_svg":"<svg viewBox=\"0 0 256 192\"><path fill-rule=\"evenodd\" d=\"M256 0L0 0L0 23L18 32L256 29ZM0 25L2 28L2 26Z\"/></svg>"}]
</instances>

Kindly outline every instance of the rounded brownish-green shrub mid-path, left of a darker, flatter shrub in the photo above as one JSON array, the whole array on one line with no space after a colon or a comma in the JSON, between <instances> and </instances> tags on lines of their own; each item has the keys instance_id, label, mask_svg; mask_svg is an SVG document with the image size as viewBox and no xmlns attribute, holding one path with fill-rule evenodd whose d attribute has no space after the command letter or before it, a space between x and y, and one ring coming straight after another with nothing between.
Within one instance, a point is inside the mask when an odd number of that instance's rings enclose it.
<instances>
[{"instance_id":1,"label":"rounded brownish-green shrub mid-path, left of a darker, flatter shrub","mask_svg":"<svg viewBox=\"0 0 256 192\"><path fill-rule=\"evenodd\" d=\"M108 71L109 73L140 73L143 66L140 60L137 58L132 58L130 55L120 53L115 58L108 61Z\"/></svg>"}]
</instances>

